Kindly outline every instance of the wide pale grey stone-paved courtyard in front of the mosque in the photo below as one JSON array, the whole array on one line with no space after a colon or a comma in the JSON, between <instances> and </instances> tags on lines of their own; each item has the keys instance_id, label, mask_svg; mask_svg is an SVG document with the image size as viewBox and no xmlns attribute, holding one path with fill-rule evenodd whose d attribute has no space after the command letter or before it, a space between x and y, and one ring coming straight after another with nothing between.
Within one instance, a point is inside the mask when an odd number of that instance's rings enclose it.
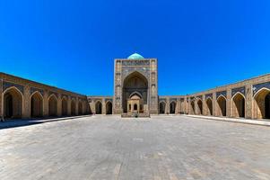
<instances>
[{"instance_id":1,"label":"wide pale grey stone-paved courtyard in front of the mosque","mask_svg":"<svg viewBox=\"0 0 270 180\"><path fill-rule=\"evenodd\" d=\"M269 127L92 116L0 130L0 179L270 179Z\"/></svg>"}]
</instances>

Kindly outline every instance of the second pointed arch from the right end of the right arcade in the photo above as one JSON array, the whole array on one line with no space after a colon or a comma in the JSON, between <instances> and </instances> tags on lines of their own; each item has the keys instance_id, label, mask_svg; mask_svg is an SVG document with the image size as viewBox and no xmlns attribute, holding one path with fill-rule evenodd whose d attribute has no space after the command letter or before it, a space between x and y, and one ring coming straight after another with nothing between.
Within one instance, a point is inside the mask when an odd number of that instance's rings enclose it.
<instances>
[{"instance_id":1,"label":"second pointed arch from the right end of the right arcade","mask_svg":"<svg viewBox=\"0 0 270 180\"><path fill-rule=\"evenodd\" d=\"M236 118L245 117L245 95L240 92L232 96L232 116Z\"/></svg>"}]
</instances>

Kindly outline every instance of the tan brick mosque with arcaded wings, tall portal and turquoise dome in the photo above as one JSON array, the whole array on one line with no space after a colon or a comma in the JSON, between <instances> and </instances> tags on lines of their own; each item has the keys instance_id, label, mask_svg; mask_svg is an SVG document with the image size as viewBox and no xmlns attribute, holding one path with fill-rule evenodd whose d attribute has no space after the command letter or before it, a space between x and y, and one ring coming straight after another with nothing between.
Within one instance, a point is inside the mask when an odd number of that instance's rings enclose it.
<instances>
[{"instance_id":1,"label":"tan brick mosque with arcaded wings, tall portal and turquoise dome","mask_svg":"<svg viewBox=\"0 0 270 180\"><path fill-rule=\"evenodd\" d=\"M0 73L0 117L61 117L118 114L151 117L196 114L270 119L270 75L257 76L196 94L158 95L158 60L135 53L116 58L114 94L91 96Z\"/></svg>"}]
</instances>

